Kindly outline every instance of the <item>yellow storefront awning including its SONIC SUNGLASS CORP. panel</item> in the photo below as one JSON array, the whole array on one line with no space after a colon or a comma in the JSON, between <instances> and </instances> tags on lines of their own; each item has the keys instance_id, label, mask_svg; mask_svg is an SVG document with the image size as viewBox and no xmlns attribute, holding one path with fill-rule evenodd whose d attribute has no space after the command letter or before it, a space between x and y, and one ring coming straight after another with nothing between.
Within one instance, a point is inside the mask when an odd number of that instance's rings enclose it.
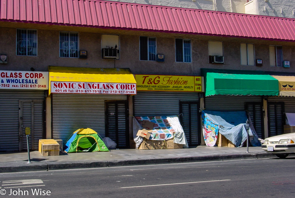
<instances>
[{"instance_id":1,"label":"yellow storefront awning including its SONIC SUNGLASS CORP. panel","mask_svg":"<svg viewBox=\"0 0 295 198\"><path fill-rule=\"evenodd\" d=\"M136 94L128 68L49 66L49 93Z\"/></svg>"}]
</instances>

